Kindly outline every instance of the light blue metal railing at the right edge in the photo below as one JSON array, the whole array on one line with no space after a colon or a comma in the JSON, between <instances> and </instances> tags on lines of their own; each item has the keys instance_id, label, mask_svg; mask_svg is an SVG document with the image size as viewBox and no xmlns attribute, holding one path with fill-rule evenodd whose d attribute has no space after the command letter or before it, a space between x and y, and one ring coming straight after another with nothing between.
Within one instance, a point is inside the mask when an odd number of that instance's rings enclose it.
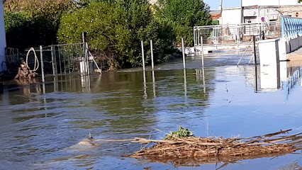
<instances>
[{"instance_id":1,"label":"light blue metal railing at the right edge","mask_svg":"<svg viewBox=\"0 0 302 170\"><path fill-rule=\"evenodd\" d=\"M281 16L282 38L290 38L302 34L302 18Z\"/></svg>"}]
</instances>

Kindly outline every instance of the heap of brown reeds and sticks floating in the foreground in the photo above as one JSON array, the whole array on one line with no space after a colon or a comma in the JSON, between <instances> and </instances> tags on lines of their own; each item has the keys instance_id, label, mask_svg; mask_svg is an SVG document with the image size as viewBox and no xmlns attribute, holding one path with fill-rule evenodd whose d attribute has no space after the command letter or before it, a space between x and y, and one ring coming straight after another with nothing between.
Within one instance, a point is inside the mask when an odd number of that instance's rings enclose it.
<instances>
[{"instance_id":1,"label":"heap of brown reeds and sticks floating in the foreground","mask_svg":"<svg viewBox=\"0 0 302 170\"><path fill-rule=\"evenodd\" d=\"M134 140L103 141L156 143L152 147L144 147L140 151L126 156L148 159L150 162L186 165L215 164L218 162L236 162L242 159L276 157L302 149L302 133L281 135L289 131L291 130L248 138L172 137L169 140L135 138Z\"/></svg>"}]
</instances>

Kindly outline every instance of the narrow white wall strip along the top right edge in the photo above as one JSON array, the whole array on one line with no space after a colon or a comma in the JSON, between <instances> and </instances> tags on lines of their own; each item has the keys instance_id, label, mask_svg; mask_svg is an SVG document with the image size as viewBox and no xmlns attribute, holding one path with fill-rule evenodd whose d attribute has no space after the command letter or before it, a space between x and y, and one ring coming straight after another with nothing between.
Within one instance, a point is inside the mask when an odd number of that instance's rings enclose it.
<instances>
[{"instance_id":1,"label":"narrow white wall strip along the top right edge","mask_svg":"<svg viewBox=\"0 0 302 170\"><path fill-rule=\"evenodd\" d=\"M242 6L286 6L298 5L297 0L242 0Z\"/></svg>"}]
</instances>

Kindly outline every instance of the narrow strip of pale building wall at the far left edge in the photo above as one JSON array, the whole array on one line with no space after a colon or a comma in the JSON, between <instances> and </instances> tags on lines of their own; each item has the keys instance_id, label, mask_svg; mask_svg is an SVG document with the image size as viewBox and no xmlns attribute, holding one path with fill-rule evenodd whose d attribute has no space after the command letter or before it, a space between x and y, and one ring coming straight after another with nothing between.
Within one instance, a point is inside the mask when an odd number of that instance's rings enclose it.
<instances>
[{"instance_id":1,"label":"narrow strip of pale building wall at the far left edge","mask_svg":"<svg viewBox=\"0 0 302 170\"><path fill-rule=\"evenodd\" d=\"M0 0L0 72L5 70L5 48L6 48L6 38L5 38L5 26L4 26L4 7L3 0ZM4 67L4 68L2 68Z\"/></svg>"}]
</instances>

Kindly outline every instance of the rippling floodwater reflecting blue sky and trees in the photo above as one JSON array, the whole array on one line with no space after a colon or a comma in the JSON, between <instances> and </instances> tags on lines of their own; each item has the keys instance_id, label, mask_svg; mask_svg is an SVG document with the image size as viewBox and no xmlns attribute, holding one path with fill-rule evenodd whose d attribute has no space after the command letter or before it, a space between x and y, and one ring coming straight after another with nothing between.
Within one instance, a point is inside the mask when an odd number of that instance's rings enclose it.
<instances>
[{"instance_id":1,"label":"rippling floodwater reflecting blue sky and trees","mask_svg":"<svg viewBox=\"0 0 302 170\"><path fill-rule=\"evenodd\" d=\"M222 164L174 166L122 157L138 151L130 142L79 146L96 139L161 139L189 128L196 136L250 137L279 130L302 131L299 64L248 66L242 52L181 60L102 76L47 77L45 86L10 84L0 96L0 169L216 169ZM158 131L158 130L161 131ZM247 159L225 169L301 169L301 151Z\"/></svg>"}]
</instances>

